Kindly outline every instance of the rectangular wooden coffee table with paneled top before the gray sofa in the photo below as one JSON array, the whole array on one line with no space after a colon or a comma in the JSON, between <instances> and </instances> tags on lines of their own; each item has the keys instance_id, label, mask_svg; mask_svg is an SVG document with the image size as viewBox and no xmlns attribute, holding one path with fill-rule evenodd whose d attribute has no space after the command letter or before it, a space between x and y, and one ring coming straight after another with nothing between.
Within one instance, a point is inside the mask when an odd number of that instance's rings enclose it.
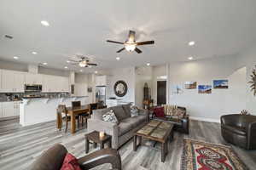
<instances>
[{"instance_id":1,"label":"rectangular wooden coffee table with paneled top before the gray sofa","mask_svg":"<svg viewBox=\"0 0 256 170\"><path fill-rule=\"evenodd\" d=\"M137 144L137 138L139 143ZM142 143L143 139L150 139L161 143L161 161L164 162L168 153L168 139L173 139L173 124L171 122L160 122L152 120L135 133L133 137L133 150Z\"/></svg>"}]
</instances>

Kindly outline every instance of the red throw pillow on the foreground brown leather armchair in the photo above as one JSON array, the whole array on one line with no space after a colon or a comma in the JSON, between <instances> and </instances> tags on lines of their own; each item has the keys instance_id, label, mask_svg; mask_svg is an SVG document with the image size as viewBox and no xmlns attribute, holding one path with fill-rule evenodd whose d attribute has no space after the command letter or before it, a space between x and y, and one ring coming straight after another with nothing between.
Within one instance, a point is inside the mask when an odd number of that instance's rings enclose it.
<instances>
[{"instance_id":1,"label":"red throw pillow on the foreground brown leather armchair","mask_svg":"<svg viewBox=\"0 0 256 170\"><path fill-rule=\"evenodd\" d=\"M82 170L79 167L79 161L75 156L70 153L67 153L63 161L61 170Z\"/></svg>"}]
</instances>

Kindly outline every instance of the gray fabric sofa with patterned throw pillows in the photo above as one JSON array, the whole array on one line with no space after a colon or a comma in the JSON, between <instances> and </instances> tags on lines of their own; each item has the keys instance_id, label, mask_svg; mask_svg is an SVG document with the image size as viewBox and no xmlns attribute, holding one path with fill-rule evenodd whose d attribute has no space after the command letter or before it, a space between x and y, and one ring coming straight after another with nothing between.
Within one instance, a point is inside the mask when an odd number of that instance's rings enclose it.
<instances>
[{"instance_id":1,"label":"gray fabric sofa with patterned throw pillows","mask_svg":"<svg viewBox=\"0 0 256 170\"><path fill-rule=\"evenodd\" d=\"M118 149L133 137L133 134L148 122L148 111L138 110L138 116L131 117L131 104L118 105L107 109L94 110L88 120L88 133L96 130L104 131L112 136L112 147ZM119 123L104 122L102 115L113 110Z\"/></svg>"}]
</instances>

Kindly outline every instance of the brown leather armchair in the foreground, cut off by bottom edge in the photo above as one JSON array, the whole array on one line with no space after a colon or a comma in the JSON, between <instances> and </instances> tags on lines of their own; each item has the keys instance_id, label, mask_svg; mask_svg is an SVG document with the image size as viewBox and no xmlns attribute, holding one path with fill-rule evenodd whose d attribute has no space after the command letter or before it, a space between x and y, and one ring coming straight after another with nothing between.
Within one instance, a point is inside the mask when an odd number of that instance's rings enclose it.
<instances>
[{"instance_id":1,"label":"brown leather armchair in the foreground, cut off by bottom edge","mask_svg":"<svg viewBox=\"0 0 256 170\"><path fill-rule=\"evenodd\" d=\"M55 144L46 150L38 160L32 163L31 170L60 170L67 154L67 149L61 144ZM78 159L81 169L90 169L104 163L112 164L113 169L121 170L119 152L113 149L97 150Z\"/></svg>"}]
</instances>

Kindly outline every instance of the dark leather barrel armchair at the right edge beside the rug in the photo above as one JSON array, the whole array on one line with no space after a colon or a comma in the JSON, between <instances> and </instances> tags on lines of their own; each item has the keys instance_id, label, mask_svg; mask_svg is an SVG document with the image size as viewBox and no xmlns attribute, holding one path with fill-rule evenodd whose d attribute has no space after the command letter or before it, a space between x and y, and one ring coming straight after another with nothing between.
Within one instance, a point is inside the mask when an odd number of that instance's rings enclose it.
<instances>
[{"instance_id":1,"label":"dark leather barrel armchair at the right edge beside the rug","mask_svg":"<svg viewBox=\"0 0 256 170\"><path fill-rule=\"evenodd\" d=\"M247 150L256 149L256 116L224 115L221 116L221 134L223 138Z\"/></svg>"}]
</instances>

